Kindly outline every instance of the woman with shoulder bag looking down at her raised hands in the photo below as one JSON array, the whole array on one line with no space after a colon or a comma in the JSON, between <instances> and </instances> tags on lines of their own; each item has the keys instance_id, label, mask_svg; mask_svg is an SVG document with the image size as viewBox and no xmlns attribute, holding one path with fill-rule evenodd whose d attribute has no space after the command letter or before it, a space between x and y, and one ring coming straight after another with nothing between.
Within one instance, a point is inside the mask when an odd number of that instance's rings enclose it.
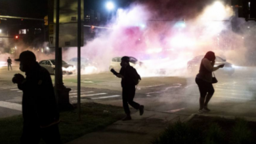
<instances>
[{"instance_id":1,"label":"woman with shoulder bag looking down at her raised hands","mask_svg":"<svg viewBox=\"0 0 256 144\"><path fill-rule=\"evenodd\" d=\"M207 105L215 92L212 84L213 71L224 67L224 64L214 67L215 58L216 57L214 52L207 52L200 64L199 73L198 75L196 75L196 84L198 84L198 88L200 91L200 109L198 111L199 113L211 111L210 109L208 109Z\"/></svg>"}]
</instances>

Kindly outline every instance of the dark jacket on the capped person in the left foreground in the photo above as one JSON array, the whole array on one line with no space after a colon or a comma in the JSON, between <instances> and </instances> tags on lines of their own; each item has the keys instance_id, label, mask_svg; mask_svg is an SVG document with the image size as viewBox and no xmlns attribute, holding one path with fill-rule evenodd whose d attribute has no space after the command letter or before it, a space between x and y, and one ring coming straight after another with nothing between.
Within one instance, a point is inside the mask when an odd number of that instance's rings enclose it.
<instances>
[{"instance_id":1,"label":"dark jacket on the capped person in the left foreground","mask_svg":"<svg viewBox=\"0 0 256 144\"><path fill-rule=\"evenodd\" d=\"M18 88L23 91L22 114L26 124L44 127L59 120L53 82L47 69L36 62Z\"/></svg>"}]
</instances>

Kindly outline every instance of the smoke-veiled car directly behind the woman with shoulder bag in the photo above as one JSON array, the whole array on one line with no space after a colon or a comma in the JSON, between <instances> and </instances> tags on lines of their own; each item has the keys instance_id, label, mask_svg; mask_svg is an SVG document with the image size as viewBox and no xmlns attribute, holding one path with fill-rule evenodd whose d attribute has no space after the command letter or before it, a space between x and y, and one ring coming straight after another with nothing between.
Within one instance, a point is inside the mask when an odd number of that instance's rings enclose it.
<instances>
[{"instance_id":1,"label":"smoke-veiled car directly behind the woman with shoulder bag","mask_svg":"<svg viewBox=\"0 0 256 144\"><path fill-rule=\"evenodd\" d=\"M192 60L188 61L187 63L187 69L189 73L194 73L199 71L200 63L202 61L204 56L196 56ZM235 71L234 67L232 67L232 64L229 62L226 62L225 59L216 56L215 60L215 66L224 64L224 67L216 71L216 73L224 73L228 75L232 75Z\"/></svg>"}]
</instances>

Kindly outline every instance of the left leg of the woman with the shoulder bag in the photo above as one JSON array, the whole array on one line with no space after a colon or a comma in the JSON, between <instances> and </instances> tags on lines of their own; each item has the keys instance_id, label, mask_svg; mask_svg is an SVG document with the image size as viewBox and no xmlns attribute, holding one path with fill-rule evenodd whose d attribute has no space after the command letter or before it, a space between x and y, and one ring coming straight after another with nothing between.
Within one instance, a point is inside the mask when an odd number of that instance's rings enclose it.
<instances>
[{"instance_id":1,"label":"left leg of the woman with the shoulder bag","mask_svg":"<svg viewBox=\"0 0 256 144\"><path fill-rule=\"evenodd\" d=\"M200 99L199 99L199 110L203 109L203 104L205 101L205 96L207 94L207 88L205 87L205 82L202 79L196 79L196 84L198 84L199 92L200 92Z\"/></svg>"}]
</instances>

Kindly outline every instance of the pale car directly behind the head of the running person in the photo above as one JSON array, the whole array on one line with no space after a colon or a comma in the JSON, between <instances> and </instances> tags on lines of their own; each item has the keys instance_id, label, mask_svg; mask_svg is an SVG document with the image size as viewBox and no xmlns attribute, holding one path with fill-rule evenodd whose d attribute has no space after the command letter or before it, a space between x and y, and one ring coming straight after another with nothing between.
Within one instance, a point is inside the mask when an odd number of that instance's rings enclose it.
<instances>
[{"instance_id":1,"label":"pale car directly behind the head of the running person","mask_svg":"<svg viewBox=\"0 0 256 144\"><path fill-rule=\"evenodd\" d=\"M116 71L119 71L121 69L121 58L122 57L115 57L115 58L112 58L111 62L110 62L110 67L109 69L115 69ZM143 63L142 62L139 62L136 58L134 57L131 57L129 56L130 58L130 65L132 67L135 67L136 68L139 68L139 67L143 67Z\"/></svg>"}]
</instances>

